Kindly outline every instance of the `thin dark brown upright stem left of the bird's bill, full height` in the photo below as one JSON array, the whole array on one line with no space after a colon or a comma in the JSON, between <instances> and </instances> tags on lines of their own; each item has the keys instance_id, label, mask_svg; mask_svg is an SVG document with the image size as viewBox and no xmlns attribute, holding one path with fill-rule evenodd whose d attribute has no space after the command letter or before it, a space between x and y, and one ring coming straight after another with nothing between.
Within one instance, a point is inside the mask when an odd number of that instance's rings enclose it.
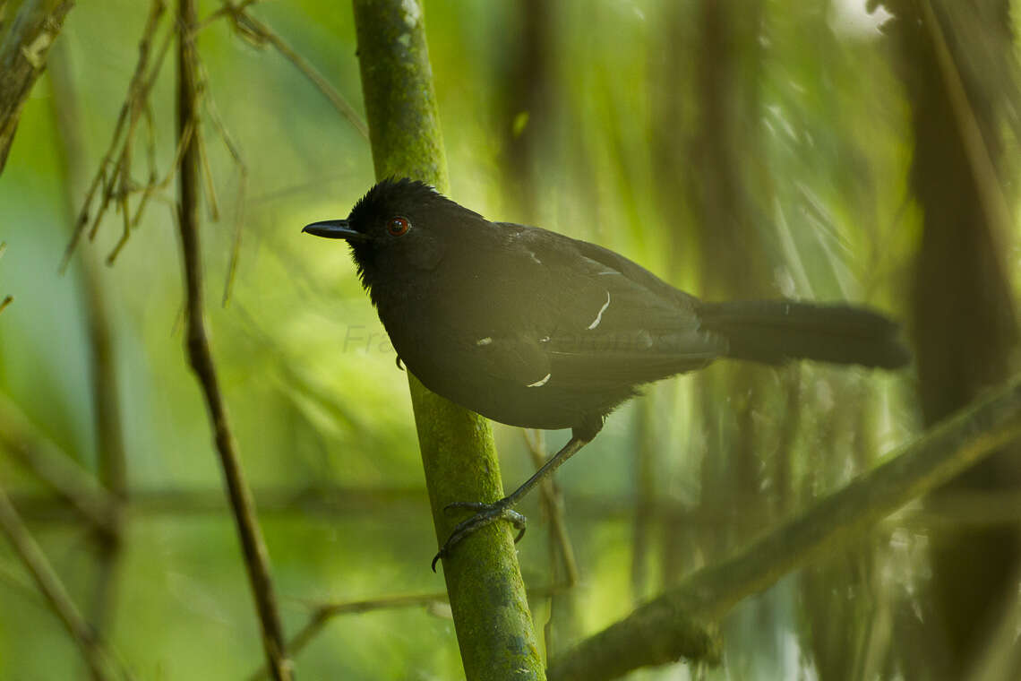
<instances>
[{"instance_id":1,"label":"thin dark brown upright stem left of the bird's bill, full height","mask_svg":"<svg viewBox=\"0 0 1021 681\"><path fill-rule=\"evenodd\" d=\"M198 115L197 61L193 29L196 23L195 0L179 0L178 23L178 131L183 139ZM291 678L277 598L270 577L270 560L255 516L255 504L244 477L237 445L231 432L227 407L220 390L216 369L205 331L202 304L202 262L198 233L199 158L194 135L185 146L180 174L178 208L181 251L187 290L188 357L195 378L202 388L209 420L215 435L224 477L231 498L231 508L255 598L266 664L276 681Z\"/></svg>"}]
</instances>

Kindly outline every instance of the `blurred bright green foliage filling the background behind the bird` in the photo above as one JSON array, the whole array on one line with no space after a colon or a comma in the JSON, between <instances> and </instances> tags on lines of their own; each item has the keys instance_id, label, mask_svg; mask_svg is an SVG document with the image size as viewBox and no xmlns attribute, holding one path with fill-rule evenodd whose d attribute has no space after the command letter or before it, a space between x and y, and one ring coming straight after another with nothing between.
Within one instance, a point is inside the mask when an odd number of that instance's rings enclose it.
<instances>
[{"instance_id":1,"label":"blurred bright green foliage filling the background behind the bird","mask_svg":"<svg viewBox=\"0 0 1021 681\"><path fill-rule=\"evenodd\" d=\"M113 266L102 263L120 231L120 216L111 211L95 241L79 246L68 272L57 274L86 184L109 143L146 4L79 3L59 38L63 56L50 65L65 69L74 87L43 79L25 107L0 179L0 240L8 244L0 297L15 296L0 315L0 392L4 408L23 412L36 433L95 470L82 283L87 270L95 272L114 338L136 502L109 640L140 679L240 678L261 661L257 625L234 525L216 501L222 480L204 404L183 352L181 265L167 202L150 203ZM697 243L713 226L676 206L690 205L690 187L703 172L684 161L700 134L700 3L548 3L537 68L549 94L536 110L522 106L509 77L528 56L522 54L529 44L526 4L424 4L451 196L493 218L535 221L596 241L697 293L701 274L714 266L699 261ZM757 140L733 172L761 218L766 250L751 256L761 255L772 275L764 297L846 298L904 317L919 226L907 186L910 116L877 30L880 17L858 4L762 2L755 40L730 46L749 64L741 86L756 105L736 113ZM217 6L201 3L202 15ZM347 5L264 2L251 11L361 110ZM168 27L161 25L157 43ZM435 547L406 381L345 249L299 235L308 222L345 215L369 188L369 145L292 64L272 48L241 40L226 19L204 28L198 42L209 95L247 174L233 296L208 310L212 346L261 508L285 627L293 633L320 601L429 592L442 581L427 567ZM161 173L175 151L172 65L167 59L152 99ZM665 106L668 100L675 104ZM55 124L57 110L70 105L80 111L75 125L83 141L81 157L74 158ZM515 145L535 131L527 165L512 166ZM216 301L228 276L241 171L215 129L205 123L202 132L224 213L203 224L208 299ZM672 165L659 160L666 147L681 150ZM143 145L136 156L141 175ZM528 178L522 177L526 167ZM529 205L514 187L519 181L526 183ZM664 201L665 187L679 203ZM809 405L784 451L776 447L791 404L774 402L752 417L766 422L764 469L756 479L773 508L797 508L835 488L916 428L904 376L806 367L766 380L776 384L771 394L777 399L796 387L793 407ZM624 616L636 599L782 517L743 515L748 499L737 482L733 494L703 504L703 457L719 452L707 451L691 382L650 387L644 400L612 417L604 434L558 477L582 570L575 611L582 632ZM733 396L735 403L741 399ZM531 463L520 432L498 427L497 438L504 480L523 480ZM550 434L548 443L562 439ZM634 461L642 447L657 452L651 490L659 515L642 549L651 556L642 564L647 574L636 580ZM785 487L775 477L778 457L788 469ZM96 578L88 528L66 515L54 519L50 508L58 502L3 456L0 478L88 614ZM728 510L699 512L709 507ZM550 569L537 499L524 510L532 517L521 544L526 579L546 585ZM861 635L877 610L910 600L924 535L900 529L891 541L888 530L878 531L863 543L881 552L886 566L886 581L871 597L889 602L857 601L834 634L837 645ZM811 579L791 577L736 612L727 627L729 671L709 677L818 673L813 646L819 642L812 637L820 630L814 632L811 601L828 596L814 596ZM842 589L850 599L868 587L840 574L818 589ZM541 626L547 603L533 606ZM876 645L889 655L895 642ZM337 619L298 656L297 671L304 679L443 679L455 678L460 667L451 623L410 609ZM690 671L635 678L686 678ZM13 555L0 547L0 678L81 673L74 646Z\"/></svg>"}]
</instances>

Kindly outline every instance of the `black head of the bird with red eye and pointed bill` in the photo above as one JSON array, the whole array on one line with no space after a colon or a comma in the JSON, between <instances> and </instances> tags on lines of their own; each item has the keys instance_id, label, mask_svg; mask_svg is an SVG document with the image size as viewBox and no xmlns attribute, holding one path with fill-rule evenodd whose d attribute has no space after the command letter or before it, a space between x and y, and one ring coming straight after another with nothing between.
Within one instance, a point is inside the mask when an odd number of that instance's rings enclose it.
<instances>
[{"instance_id":1,"label":"black head of the bird with red eye and pointed bill","mask_svg":"<svg viewBox=\"0 0 1021 681\"><path fill-rule=\"evenodd\" d=\"M307 225L302 232L344 239L368 289L432 270L457 232L485 220L429 185L407 178L378 183L351 209L347 220Z\"/></svg>"}]
</instances>

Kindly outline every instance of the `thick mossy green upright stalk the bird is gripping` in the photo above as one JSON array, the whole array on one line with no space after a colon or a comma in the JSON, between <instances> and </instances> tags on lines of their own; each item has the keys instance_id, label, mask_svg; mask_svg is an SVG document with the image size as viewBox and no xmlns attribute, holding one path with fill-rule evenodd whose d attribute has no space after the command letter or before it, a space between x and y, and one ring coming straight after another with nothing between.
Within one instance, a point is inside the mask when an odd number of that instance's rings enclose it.
<instances>
[{"instance_id":1,"label":"thick mossy green upright stalk the bird is gripping","mask_svg":"<svg viewBox=\"0 0 1021 681\"><path fill-rule=\"evenodd\" d=\"M406 176L447 189L446 160L417 0L354 0L361 85L376 177ZM408 375L437 539L453 501L495 501L502 483L482 417ZM425 565L423 556L423 565ZM443 574L469 681L545 679L509 528L490 525L459 543Z\"/></svg>"}]
</instances>

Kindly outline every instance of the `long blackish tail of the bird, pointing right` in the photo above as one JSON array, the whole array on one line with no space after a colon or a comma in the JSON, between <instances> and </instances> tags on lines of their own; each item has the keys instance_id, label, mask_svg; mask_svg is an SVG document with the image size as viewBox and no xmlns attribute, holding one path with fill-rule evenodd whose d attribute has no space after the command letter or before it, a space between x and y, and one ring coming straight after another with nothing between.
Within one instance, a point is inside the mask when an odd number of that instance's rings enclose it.
<instances>
[{"instance_id":1,"label":"long blackish tail of the bird, pointing right","mask_svg":"<svg viewBox=\"0 0 1021 681\"><path fill-rule=\"evenodd\" d=\"M702 328L729 341L727 356L769 364L817 359L896 369L911 353L900 325L871 309L788 300L702 302Z\"/></svg>"}]
</instances>

